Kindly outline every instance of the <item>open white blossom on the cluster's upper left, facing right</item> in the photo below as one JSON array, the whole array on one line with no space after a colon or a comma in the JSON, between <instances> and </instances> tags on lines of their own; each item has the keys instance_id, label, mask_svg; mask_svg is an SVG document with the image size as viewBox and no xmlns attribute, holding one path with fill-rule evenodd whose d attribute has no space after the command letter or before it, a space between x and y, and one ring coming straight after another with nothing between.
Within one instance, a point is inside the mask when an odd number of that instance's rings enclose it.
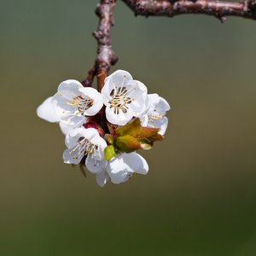
<instances>
[{"instance_id":1,"label":"open white blossom on the cluster's upper left, facing right","mask_svg":"<svg viewBox=\"0 0 256 256\"><path fill-rule=\"evenodd\" d=\"M73 127L83 125L86 116L95 115L103 106L101 93L73 79L59 85L51 104L60 121Z\"/></svg>"}]
</instances>

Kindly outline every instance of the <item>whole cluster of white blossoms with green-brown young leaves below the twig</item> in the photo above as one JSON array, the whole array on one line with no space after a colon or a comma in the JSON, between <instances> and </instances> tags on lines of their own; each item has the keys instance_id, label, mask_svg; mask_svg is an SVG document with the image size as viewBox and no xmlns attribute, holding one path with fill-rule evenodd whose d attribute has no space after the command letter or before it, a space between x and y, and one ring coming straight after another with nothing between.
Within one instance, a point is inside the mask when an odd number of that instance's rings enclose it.
<instances>
[{"instance_id":1,"label":"whole cluster of white blossoms with green-brown young leaves below the twig","mask_svg":"<svg viewBox=\"0 0 256 256\"><path fill-rule=\"evenodd\" d=\"M166 132L170 106L131 74L118 70L104 81L102 92L77 80L62 82L54 96L37 109L38 116L57 122L66 135L67 164L85 166L100 186L124 183L133 173L147 174L148 164L137 149L152 148Z\"/></svg>"}]
</instances>

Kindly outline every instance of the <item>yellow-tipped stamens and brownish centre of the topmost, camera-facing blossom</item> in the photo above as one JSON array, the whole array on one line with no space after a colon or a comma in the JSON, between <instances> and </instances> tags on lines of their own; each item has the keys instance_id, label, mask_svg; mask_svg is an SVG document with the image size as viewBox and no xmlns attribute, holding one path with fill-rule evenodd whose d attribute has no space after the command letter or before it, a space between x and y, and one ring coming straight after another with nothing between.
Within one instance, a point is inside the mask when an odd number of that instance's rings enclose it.
<instances>
[{"instance_id":1,"label":"yellow-tipped stamens and brownish centre of the topmost, camera-facing blossom","mask_svg":"<svg viewBox=\"0 0 256 256\"><path fill-rule=\"evenodd\" d=\"M127 89L122 87L118 90L112 90L110 96L112 99L109 101L110 108L113 108L113 113L119 114L121 110L123 113L127 112L129 104L131 103L131 98L127 96Z\"/></svg>"}]
</instances>

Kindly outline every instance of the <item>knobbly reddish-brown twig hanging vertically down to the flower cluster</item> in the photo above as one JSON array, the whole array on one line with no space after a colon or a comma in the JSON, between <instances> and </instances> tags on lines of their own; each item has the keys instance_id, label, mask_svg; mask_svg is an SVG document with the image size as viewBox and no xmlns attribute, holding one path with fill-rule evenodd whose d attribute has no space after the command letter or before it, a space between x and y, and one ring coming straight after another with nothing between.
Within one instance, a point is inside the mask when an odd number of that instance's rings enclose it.
<instances>
[{"instance_id":1,"label":"knobbly reddish-brown twig hanging vertically down to the flower cluster","mask_svg":"<svg viewBox=\"0 0 256 256\"><path fill-rule=\"evenodd\" d=\"M98 91L102 90L104 80L108 76L111 65L118 61L111 46L111 26L113 26L113 8L115 0L101 0L97 4L96 15L99 16L100 22L94 37L98 42L97 57L95 62L95 75L97 77ZM93 78L93 76L92 76Z\"/></svg>"}]
</instances>

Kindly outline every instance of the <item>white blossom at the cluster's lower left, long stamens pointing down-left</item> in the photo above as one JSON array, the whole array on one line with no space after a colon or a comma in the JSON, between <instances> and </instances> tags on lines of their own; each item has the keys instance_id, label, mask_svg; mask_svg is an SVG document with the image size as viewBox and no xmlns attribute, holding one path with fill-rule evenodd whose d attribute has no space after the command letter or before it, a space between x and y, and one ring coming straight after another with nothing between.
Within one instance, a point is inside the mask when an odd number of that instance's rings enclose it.
<instances>
[{"instance_id":1,"label":"white blossom at the cluster's lower left, long stamens pointing down-left","mask_svg":"<svg viewBox=\"0 0 256 256\"><path fill-rule=\"evenodd\" d=\"M76 128L67 134L65 143L67 149L62 156L65 163L78 165L86 157L85 166L90 172L102 172L106 168L104 148L107 143L96 129Z\"/></svg>"}]
</instances>

